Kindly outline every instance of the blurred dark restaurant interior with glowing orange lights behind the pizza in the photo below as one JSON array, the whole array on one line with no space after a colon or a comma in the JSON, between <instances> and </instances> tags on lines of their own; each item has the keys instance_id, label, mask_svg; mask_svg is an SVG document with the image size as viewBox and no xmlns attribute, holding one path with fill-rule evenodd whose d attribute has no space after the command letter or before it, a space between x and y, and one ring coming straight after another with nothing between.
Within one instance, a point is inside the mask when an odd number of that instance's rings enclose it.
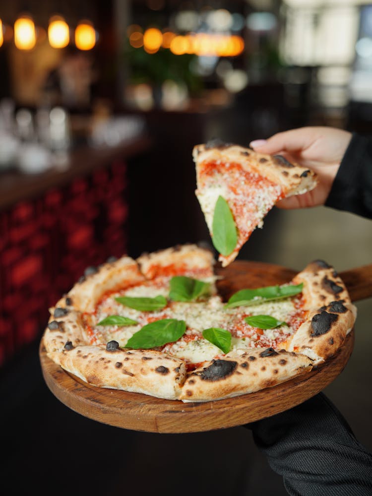
<instances>
[{"instance_id":1,"label":"blurred dark restaurant interior with glowing orange lights behind the pizza","mask_svg":"<svg viewBox=\"0 0 372 496\"><path fill-rule=\"evenodd\" d=\"M45 385L38 346L48 308L87 266L179 243L211 246L194 194L194 145L220 138L247 146L303 125L371 135L370 2L1 2L7 494L36 485L46 494L53 484L56 495L80 485L117 495L130 479L141 481L137 495L286 494L243 428L138 433L72 412ZM371 254L370 220L326 207L274 208L239 258L295 270L323 258L342 271L370 264ZM325 391L370 449L371 303L358 302L354 353ZM185 463L201 453L204 470L186 484ZM56 487L57 459L69 472ZM98 460L99 480L90 475Z\"/></svg>"}]
</instances>

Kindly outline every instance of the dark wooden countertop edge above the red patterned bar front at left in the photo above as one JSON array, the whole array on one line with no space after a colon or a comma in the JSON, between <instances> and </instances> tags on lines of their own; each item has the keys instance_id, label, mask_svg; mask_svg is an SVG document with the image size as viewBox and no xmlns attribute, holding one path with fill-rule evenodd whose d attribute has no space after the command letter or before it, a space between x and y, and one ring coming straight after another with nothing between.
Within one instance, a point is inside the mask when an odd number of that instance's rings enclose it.
<instances>
[{"instance_id":1,"label":"dark wooden countertop edge above the red patterned bar front at left","mask_svg":"<svg viewBox=\"0 0 372 496\"><path fill-rule=\"evenodd\" d=\"M73 179L86 176L99 167L116 159L127 160L147 151L151 140L142 135L120 146L92 148L80 146L69 153L69 160L63 168L51 168L40 174L23 174L18 171L0 173L0 211L18 201L35 198L52 187L64 186Z\"/></svg>"}]
</instances>

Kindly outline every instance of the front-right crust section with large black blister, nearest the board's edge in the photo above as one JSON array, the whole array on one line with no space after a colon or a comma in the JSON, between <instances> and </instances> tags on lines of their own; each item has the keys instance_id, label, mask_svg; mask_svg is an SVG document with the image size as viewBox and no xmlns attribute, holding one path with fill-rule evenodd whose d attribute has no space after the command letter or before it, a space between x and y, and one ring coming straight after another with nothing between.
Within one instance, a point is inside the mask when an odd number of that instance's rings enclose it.
<instances>
[{"instance_id":1,"label":"front-right crust section with large black blister, nearest the board's edge","mask_svg":"<svg viewBox=\"0 0 372 496\"><path fill-rule=\"evenodd\" d=\"M201 402L231 398L275 386L311 368L308 357L284 350L238 350L189 373L179 399Z\"/></svg>"}]
</instances>

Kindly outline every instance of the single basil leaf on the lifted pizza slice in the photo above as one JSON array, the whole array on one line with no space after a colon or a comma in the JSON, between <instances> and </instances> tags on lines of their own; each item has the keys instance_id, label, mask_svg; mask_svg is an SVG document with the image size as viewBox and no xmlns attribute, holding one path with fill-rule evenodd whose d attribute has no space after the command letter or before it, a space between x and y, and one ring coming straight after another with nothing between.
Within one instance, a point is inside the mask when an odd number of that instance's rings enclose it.
<instances>
[{"instance_id":1,"label":"single basil leaf on the lifted pizza slice","mask_svg":"<svg viewBox=\"0 0 372 496\"><path fill-rule=\"evenodd\" d=\"M224 256L230 255L238 243L238 233L233 214L222 196L218 197L214 208L212 243L214 248Z\"/></svg>"}]
</instances>

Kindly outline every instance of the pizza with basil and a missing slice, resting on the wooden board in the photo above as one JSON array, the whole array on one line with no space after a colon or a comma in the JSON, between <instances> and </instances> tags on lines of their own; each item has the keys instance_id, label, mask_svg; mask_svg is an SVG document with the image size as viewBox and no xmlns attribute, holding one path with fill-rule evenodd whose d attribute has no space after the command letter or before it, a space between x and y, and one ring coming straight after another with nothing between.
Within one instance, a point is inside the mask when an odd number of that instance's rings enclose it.
<instances>
[{"instance_id":1,"label":"pizza with basil and a missing slice, resting on the wooden board","mask_svg":"<svg viewBox=\"0 0 372 496\"><path fill-rule=\"evenodd\" d=\"M356 318L334 268L218 293L212 250L186 244L110 258L51 307L47 356L82 381L204 402L275 386L326 362Z\"/></svg>"}]
</instances>

